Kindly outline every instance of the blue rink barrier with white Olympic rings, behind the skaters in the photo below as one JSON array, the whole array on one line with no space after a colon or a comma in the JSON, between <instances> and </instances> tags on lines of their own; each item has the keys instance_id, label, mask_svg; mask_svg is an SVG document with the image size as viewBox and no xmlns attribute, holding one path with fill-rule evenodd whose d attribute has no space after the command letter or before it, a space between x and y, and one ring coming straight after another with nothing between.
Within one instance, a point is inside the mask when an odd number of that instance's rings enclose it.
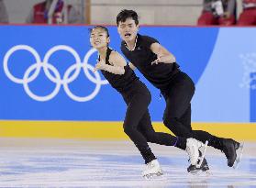
<instances>
[{"instance_id":1,"label":"blue rink barrier with white Olympic rings, behind the skaters","mask_svg":"<svg viewBox=\"0 0 256 188\"><path fill-rule=\"evenodd\" d=\"M123 120L122 97L92 72L97 54L88 28L0 26L0 119ZM117 28L108 28L110 47L120 52ZM193 121L255 121L255 91L246 80L249 62L255 62L256 28L141 27L139 32L158 39L194 80ZM164 100L136 73L152 94L151 119L161 121Z\"/></svg>"}]
</instances>

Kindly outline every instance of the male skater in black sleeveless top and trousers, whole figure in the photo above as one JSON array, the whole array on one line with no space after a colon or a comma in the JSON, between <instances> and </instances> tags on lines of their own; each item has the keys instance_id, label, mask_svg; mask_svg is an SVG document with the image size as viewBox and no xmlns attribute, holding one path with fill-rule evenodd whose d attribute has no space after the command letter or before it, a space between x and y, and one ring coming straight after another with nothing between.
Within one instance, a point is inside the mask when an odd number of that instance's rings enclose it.
<instances>
[{"instance_id":1,"label":"male skater in black sleeveless top and trousers, whole figure","mask_svg":"<svg viewBox=\"0 0 256 188\"><path fill-rule=\"evenodd\" d=\"M238 155L236 150L242 145L231 138L217 138L203 130L192 130L191 99L195 93L195 84L184 72L171 52L161 46L157 39L139 35L139 19L133 10L122 10L117 15L117 30L123 39L121 50L130 61L132 69L137 68L144 77L164 96L166 107L163 124L176 136L195 138L222 150L228 166L235 167ZM187 171L209 170L206 160L199 168L190 166Z\"/></svg>"}]
</instances>

